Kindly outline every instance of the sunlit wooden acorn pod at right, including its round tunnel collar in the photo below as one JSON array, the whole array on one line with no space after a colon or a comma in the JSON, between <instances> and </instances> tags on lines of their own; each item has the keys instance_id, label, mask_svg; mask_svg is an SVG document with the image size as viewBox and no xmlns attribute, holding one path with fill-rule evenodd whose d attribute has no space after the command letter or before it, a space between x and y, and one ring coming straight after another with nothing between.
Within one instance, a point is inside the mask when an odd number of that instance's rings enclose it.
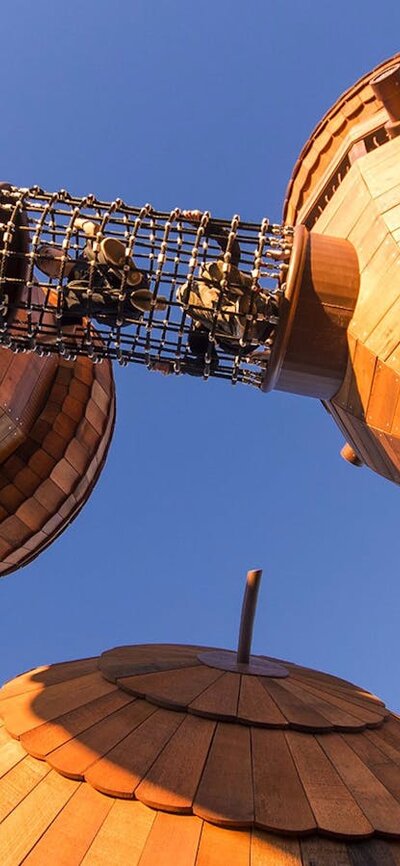
<instances>
[{"instance_id":1,"label":"sunlit wooden acorn pod at right, including its round tunnel collar","mask_svg":"<svg viewBox=\"0 0 400 866\"><path fill-rule=\"evenodd\" d=\"M396 483L399 133L396 55L341 96L295 165L284 219L296 226L297 269L292 268L288 280L285 350L269 377L270 386L321 397L349 443L342 456ZM319 253L320 244L329 246L329 239L343 245L343 252L338 248L330 262ZM356 256L353 265L350 247ZM354 268L352 280L349 265ZM352 286L352 300L343 291L343 281Z\"/></svg>"}]
</instances>

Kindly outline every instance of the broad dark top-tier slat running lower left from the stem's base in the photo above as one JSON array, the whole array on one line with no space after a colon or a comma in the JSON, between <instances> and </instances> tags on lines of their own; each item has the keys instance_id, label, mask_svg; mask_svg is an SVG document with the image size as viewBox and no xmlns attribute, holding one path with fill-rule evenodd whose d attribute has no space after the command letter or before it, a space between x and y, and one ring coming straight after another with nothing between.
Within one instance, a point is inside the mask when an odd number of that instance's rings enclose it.
<instances>
[{"instance_id":1,"label":"broad dark top-tier slat running lower left from the stem's base","mask_svg":"<svg viewBox=\"0 0 400 866\"><path fill-rule=\"evenodd\" d=\"M186 708L222 676L220 670L199 665L166 673L122 677L118 679L118 684L132 694L156 701L160 706Z\"/></svg>"}]
</instances>

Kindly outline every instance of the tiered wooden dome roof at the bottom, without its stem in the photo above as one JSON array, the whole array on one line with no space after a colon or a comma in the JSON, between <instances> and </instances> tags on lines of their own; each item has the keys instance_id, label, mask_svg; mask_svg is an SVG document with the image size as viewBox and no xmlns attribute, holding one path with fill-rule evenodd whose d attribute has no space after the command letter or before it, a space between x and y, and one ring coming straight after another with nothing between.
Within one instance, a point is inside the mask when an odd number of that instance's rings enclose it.
<instances>
[{"instance_id":1,"label":"tiered wooden dome roof at the bottom, without its stem","mask_svg":"<svg viewBox=\"0 0 400 866\"><path fill-rule=\"evenodd\" d=\"M400 864L399 719L337 677L206 651L120 647L3 687L1 863Z\"/></svg>"}]
</instances>

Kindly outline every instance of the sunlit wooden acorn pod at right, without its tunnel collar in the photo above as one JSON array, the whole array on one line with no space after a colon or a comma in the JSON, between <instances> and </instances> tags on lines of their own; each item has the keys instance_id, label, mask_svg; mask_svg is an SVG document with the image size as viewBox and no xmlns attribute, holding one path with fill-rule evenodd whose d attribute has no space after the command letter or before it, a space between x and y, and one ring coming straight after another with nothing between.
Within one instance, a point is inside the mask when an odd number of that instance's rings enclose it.
<instances>
[{"instance_id":1,"label":"sunlit wooden acorn pod at right, without its tunnel collar","mask_svg":"<svg viewBox=\"0 0 400 866\"><path fill-rule=\"evenodd\" d=\"M369 72L328 112L299 157L285 205L287 219L305 223L311 238L349 241L357 254L360 288L353 315L346 314L347 364L336 390L319 396L343 432L352 462L397 484L400 138L394 91L399 59L395 55ZM300 354L307 344L299 340ZM322 344L319 354L322 359ZM299 389L293 377L288 385Z\"/></svg>"}]
</instances>

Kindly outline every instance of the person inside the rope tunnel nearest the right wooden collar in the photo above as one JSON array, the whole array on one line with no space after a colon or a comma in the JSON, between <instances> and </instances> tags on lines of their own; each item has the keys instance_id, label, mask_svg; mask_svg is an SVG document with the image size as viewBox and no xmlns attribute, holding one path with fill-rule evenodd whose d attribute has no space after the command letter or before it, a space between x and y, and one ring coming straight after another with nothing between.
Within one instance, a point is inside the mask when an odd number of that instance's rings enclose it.
<instances>
[{"instance_id":1,"label":"person inside the rope tunnel nearest the right wooden collar","mask_svg":"<svg viewBox=\"0 0 400 866\"><path fill-rule=\"evenodd\" d=\"M184 211L188 222L200 223L202 213L197 210ZM204 229L208 240L215 240L221 250L218 259L202 266L200 274L177 290L177 299L187 309L192 319L188 346L199 360L205 359L209 346L209 334L216 318L215 341L222 351L246 356L264 343L278 321L278 303L264 292L250 274L238 267L240 245L235 237L230 246L230 260L224 268L224 256L228 248L229 232L210 220ZM221 282L227 285L221 298ZM216 350L212 347L214 367ZM209 352L210 354L210 352Z\"/></svg>"}]
</instances>

